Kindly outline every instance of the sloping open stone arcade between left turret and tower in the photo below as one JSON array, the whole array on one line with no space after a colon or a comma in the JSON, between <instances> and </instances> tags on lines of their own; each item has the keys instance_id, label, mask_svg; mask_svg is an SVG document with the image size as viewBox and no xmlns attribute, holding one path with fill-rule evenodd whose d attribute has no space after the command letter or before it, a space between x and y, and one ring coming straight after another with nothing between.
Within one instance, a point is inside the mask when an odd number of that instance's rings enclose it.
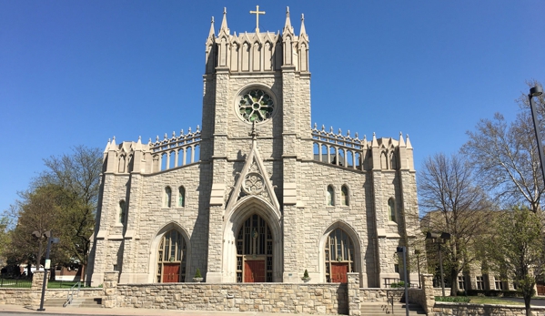
<instances>
[{"instance_id":1,"label":"sloping open stone arcade between left turret and tower","mask_svg":"<svg viewBox=\"0 0 545 316\"><path fill-rule=\"evenodd\" d=\"M150 139L148 146L154 159L152 172L185 166L198 161L197 152L200 139L201 133L198 126L195 132L192 132L189 127L187 134L184 134L182 129L179 136L172 132L171 138L167 138L167 134L165 134L165 138L162 140L157 136L156 141L152 143Z\"/></svg>"}]
</instances>

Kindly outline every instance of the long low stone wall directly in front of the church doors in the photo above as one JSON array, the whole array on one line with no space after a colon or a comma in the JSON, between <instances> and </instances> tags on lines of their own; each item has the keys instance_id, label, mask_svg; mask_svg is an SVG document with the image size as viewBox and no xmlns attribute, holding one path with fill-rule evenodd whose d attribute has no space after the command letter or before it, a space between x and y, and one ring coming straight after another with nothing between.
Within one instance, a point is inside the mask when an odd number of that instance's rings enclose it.
<instances>
[{"instance_id":1,"label":"long low stone wall directly in front of the church doors","mask_svg":"<svg viewBox=\"0 0 545 316\"><path fill-rule=\"evenodd\" d=\"M347 314L346 284L118 284L116 307Z\"/></svg>"}]
</instances>

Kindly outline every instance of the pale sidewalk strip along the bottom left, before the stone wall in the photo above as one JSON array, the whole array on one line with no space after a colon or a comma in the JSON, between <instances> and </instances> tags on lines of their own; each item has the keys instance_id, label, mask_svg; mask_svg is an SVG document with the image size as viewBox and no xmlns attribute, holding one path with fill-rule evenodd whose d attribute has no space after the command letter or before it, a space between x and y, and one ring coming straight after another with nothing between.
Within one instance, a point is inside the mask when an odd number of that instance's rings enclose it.
<instances>
[{"instance_id":1,"label":"pale sidewalk strip along the bottom left, before the stone wall","mask_svg":"<svg viewBox=\"0 0 545 316\"><path fill-rule=\"evenodd\" d=\"M36 311L38 307L25 307L20 305L0 304L0 315L3 312L21 312L35 314L64 314L64 315L146 315L146 316L220 316L220 315L246 315L246 316L285 316L296 315L294 313L258 312L258 311L179 311L179 310L152 310L135 308L80 308L80 307L45 307L45 311ZM298 313L298 316L310 314ZM316 314L314 314L316 316Z\"/></svg>"}]
</instances>

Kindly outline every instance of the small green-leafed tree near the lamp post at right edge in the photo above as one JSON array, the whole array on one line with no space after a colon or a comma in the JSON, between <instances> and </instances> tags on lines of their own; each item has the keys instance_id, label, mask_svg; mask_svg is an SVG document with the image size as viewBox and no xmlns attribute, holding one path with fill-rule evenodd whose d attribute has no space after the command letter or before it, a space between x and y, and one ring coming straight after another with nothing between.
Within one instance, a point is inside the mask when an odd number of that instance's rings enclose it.
<instances>
[{"instance_id":1,"label":"small green-leafed tree near the lamp post at right edge","mask_svg":"<svg viewBox=\"0 0 545 316\"><path fill-rule=\"evenodd\" d=\"M516 282L524 297L526 315L530 316L536 284L532 270L540 267L543 256L539 216L526 208L513 208L501 212L494 226L497 233L489 241L489 259L497 270Z\"/></svg>"}]
</instances>

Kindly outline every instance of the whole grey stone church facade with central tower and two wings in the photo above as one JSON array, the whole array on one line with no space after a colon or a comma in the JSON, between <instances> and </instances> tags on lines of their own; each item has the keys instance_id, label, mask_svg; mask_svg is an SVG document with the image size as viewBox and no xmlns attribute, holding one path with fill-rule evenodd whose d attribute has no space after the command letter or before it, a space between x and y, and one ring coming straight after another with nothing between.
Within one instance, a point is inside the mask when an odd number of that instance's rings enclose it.
<instances>
[{"instance_id":1,"label":"whole grey stone church facade with central tower and two wings","mask_svg":"<svg viewBox=\"0 0 545 316\"><path fill-rule=\"evenodd\" d=\"M409 137L311 126L308 35L289 12L281 33L237 35L224 11L206 46L202 128L108 142L87 280L400 278L396 247L419 229Z\"/></svg>"}]
</instances>

